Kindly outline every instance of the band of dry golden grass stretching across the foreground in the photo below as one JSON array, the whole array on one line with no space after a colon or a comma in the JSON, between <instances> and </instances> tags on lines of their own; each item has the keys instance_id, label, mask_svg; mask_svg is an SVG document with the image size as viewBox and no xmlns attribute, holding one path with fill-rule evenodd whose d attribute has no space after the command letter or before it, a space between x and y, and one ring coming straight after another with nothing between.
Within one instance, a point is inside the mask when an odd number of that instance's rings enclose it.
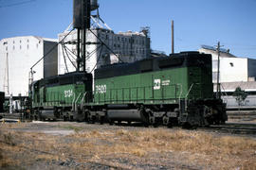
<instances>
[{"instance_id":1,"label":"band of dry golden grass stretching across the foreground","mask_svg":"<svg viewBox=\"0 0 256 170\"><path fill-rule=\"evenodd\" d=\"M211 169L256 169L256 141L244 137L164 128L76 131L62 138L0 130L0 148L5 153L27 155L30 161L62 161L68 157L80 162L101 161L118 155L150 159L152 153L174 153L184 156L188 163ZM0 167L13 161L0 155Z\"/></svg>"}]
</instances>

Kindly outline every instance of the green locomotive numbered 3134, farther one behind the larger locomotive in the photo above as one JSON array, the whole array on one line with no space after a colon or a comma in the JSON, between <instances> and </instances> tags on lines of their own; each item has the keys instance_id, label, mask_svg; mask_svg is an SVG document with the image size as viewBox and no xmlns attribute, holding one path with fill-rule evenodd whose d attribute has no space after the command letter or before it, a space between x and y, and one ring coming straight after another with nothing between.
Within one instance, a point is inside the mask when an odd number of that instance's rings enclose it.
<instances>
[{"instance_id":1,"label":"green locomotive numbered 3134, farther one behind the larger locomotive","mask_svg":"<svg viewBox=\"0 0 256 170\"><path fill-rule=\"evenodd\" d=\"M75 114L86 92L92 92L92 75L82 72L35 81L30 87L32 119L78 119Z\"/></svg>"}]
</instances>

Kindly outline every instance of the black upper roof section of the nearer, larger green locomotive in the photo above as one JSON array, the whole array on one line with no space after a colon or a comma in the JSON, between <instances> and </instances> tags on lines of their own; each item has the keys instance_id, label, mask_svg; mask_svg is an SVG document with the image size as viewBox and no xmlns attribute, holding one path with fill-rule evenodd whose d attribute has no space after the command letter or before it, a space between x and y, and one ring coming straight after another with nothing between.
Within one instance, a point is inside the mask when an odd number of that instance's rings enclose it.
<instances>
[{"instance_id":1,"label":"black upper roof section of the nearer, larger green locomotive","mask_svg":"<svg viewBox=\"0 0 256 170\"><path fill-rule=\"evenodd\" d=\"M138 60L133 63L119 63L103 66L95 70L95 78L107 78L113 76L135 75L145 72L160 71L178 67L211 65L211 55L199 52L181 52L171 54L169 57L157 57Z\"/></svg>"}]
</instances>

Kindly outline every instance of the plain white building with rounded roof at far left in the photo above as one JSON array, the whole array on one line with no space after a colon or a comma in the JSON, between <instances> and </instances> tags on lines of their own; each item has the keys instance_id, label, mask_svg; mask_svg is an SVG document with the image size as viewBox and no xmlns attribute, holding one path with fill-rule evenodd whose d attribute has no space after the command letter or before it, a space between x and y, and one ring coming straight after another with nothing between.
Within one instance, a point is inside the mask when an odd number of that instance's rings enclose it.
<instances>
[{"instance_id":1,"label":"plain white building with rounded roof at far left","mask_svg":"<svg viewBox=\"0 0 256 170\"><path fill-rule=\"evenodd\" d=\"M30 68L56 46L57 40L36 36L7 38L0 41L0 91L7 96L27 96ZM33 68L33 79L57 75L58 48ZM44 67L45 65L45 67Z\"/></svg>"}]
</instances>

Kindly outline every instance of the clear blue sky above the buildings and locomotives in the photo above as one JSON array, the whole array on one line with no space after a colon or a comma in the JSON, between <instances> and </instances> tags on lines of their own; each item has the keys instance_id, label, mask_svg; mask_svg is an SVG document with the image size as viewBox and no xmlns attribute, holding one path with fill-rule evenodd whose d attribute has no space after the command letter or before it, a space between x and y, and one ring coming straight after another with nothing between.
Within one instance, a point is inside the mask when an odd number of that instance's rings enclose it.
<instances>
[{"instance_id":1,"label":"clear blue sky above the buildings and locomotives","mask_svg":"<svg viewBox=\"0 0 256 170\"><path fill-rule=\"evenodd\" d=\"M36 35L57 38L72 22L72 0L0 0L0 39ZM152 48L197 50L218 41L236 56L256 59L256 0L99 0L101 18L115 32L151 27Z\"/></svg>"}]
</instances>

